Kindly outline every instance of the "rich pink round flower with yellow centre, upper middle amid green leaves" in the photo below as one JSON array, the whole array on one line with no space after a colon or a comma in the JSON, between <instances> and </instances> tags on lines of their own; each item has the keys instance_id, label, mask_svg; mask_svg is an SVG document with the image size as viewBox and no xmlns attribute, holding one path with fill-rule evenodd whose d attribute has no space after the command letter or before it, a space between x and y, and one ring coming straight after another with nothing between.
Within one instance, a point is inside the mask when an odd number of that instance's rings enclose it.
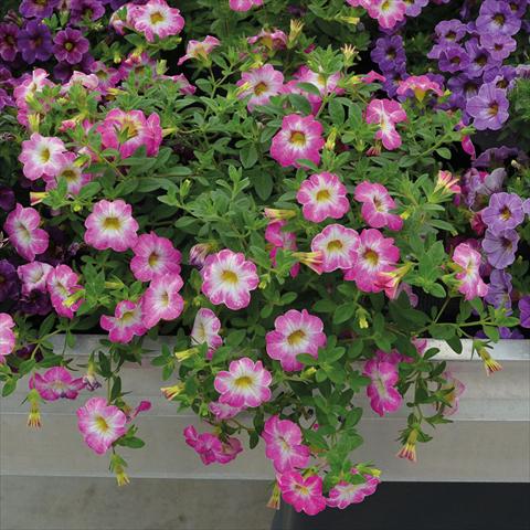
<instances>
[{"instance_id":1,"label":"rich pink round flower with yellow centre, upper middle amid green leaves","mask_svg":"<svg viewBox=\"0 0 530 530\"><path fill-rule=\"evenodd\" d=\"M289 114L282 120L282 129L273 138L271 156L283 167L298 168L297 160L307 159L320 163L320 150L325 145L322 126L312 116Z\"/></svg>"}]
</instances>

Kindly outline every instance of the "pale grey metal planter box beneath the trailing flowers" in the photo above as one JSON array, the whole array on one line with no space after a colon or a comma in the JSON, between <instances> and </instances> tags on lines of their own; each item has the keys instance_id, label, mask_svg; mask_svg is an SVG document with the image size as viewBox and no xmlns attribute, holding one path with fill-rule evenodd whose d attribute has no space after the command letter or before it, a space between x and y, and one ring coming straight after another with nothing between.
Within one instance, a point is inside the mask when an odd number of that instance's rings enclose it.
<instances>
[{"instance_id":1,"label":"pale grey metal planter box beneath the trailing flowers","mask_svg":"<svg viewBox=\"0 0 530 530\"><path fill-rule=\"evenodd\" d=\"M98 336L82 336L74 350L73 365L86 362L98 346ZM170 339L167 339L170 341ZM64 338L55 338L62 351ZM158 354L157 343L152 347ZM434 441L418 447L418 463L395 458L399 430L405 423L406 407L384 418L371 414L360 423L364 445L356 459L374 462L383 470L384 480L401 481L527 481L530 476L530 341L507 340L496 346L492 354L504 370L487 378L483 363L470 358L470 341L465 341L460 356L444 342L433 340L441 349L437 359L446 360L466 385L453 425L441 425ZM144 478L193 479L273 479L273 467L262 447L244 451L226 466L204 466L189 448L182 430L199 425L192 413L178 413L174 403L159 392L160 370L150 365L129 364L123 369L124 389L130 391L130 404L142 399L152 402L152 410L137 424L147 451L120 449L129 460L129 474ZM82 442L76 427L75 410L84 402L83 393L75 402L61 401L42 407L43 426L39 432L25 426L28 407L21 406L26 386L0 400L0 469L13 476L108 477L108 458L98 457ZM102 393L103 395L103 393ZM363 401L363 398L360 400ZM365 402L362 403L365 405ZM244 445L246 439L242 437Z\"/></svg>"}]
</instances>

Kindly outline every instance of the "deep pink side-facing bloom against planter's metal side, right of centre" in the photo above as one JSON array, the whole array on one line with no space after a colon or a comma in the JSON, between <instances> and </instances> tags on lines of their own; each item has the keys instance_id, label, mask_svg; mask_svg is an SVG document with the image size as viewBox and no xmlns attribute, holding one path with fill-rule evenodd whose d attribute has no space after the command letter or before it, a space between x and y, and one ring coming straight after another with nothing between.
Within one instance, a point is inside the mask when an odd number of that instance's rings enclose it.
<instances>
[{"instance_id":1,"label":"deep pink side-facing bloom against planter's metal side, right of centre","mask_svg":"<svg viewBox=\"0 0 530 530\"><path fill-rule=\"evenodd\" d=\"M363 375L371 379L371 383L367 386L367 395L374 412L383 416L388 412L395 412L401 406L403 398L395 389L399 380L398 363L378 358L370 359L364 364Z\"/></svg>"}]
</instances>

